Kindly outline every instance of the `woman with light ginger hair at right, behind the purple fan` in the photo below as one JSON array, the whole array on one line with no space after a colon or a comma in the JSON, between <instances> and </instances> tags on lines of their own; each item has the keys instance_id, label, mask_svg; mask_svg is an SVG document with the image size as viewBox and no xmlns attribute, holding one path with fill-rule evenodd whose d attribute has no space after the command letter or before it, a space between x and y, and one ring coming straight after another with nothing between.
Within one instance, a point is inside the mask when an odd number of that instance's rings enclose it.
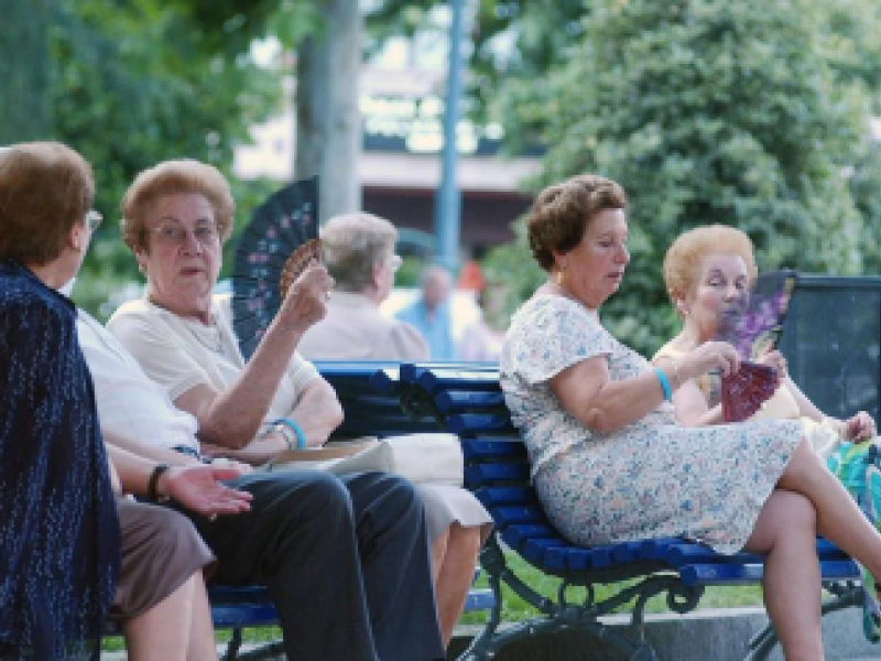
<instances>
[{"instance_id":1,"label":"woman with light ginger hair at right, behind the purple fan","mask_svg":"<svg viewBox=\"0 0 881 661\"><path fill-rule=\"evenodd\" d=\"M664 258L664 283L682 330L653 358L659 366L674 366L688 351L717 336L720 319L729 311L744 308L758 269L752 241L741 230L726 225L697 227L681 235ZM875 463L875 424L864 411L847 420L825 415L805 395L786 371L786 360L777 350L769 350L757 359L771 366L780 377L780 386L750 420L797 420L811 447L826 459L853 498L879 527L881 500L871 489L881 485ZM673 397L676 419L686 426L722 423L718 375L701 375L683 383ZM875 488L877 491L877 488ZM867 577L867 582L870 581ZM873 595L867 594L863 630L869 640L881 639L879 613Z\"/></svg>"}]
</instances>

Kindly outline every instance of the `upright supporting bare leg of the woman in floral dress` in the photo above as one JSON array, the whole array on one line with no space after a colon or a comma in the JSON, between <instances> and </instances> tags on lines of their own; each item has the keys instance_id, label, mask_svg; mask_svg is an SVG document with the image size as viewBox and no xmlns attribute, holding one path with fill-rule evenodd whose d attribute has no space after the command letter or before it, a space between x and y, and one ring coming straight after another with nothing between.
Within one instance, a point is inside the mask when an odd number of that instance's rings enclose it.
<instances>
[{"instance_id":1,"label":"upright supporting bare leg of the woman in floral dress","mask_svg":"<svg viewBox=\"0 0 881 661\"><path fill-rule=\"evenodd\" d=\"M804 496L774 490L747 550L765 553L763 597L786 661L823 659L816 510Z\"/></svg>"}]
</instances>

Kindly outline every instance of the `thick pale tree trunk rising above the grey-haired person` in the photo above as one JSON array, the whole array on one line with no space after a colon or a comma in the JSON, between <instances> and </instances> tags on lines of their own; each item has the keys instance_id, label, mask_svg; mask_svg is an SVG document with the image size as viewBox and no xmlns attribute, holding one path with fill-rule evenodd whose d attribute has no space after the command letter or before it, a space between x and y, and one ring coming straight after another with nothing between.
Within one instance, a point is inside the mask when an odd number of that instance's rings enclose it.
<instances>
[{"instance_id":1,"label":"thick pale tree trunk rising above the grey-haired person","mask_svg":"<svg viewBox=\"0 0 881 661\"><path fill-rule=\"evenodd\" d=\"M297 177L318 174L320 219L359 210L362 18L357 0L320 0L323 29L297 52Z\"/></svg>"}]
</instances>

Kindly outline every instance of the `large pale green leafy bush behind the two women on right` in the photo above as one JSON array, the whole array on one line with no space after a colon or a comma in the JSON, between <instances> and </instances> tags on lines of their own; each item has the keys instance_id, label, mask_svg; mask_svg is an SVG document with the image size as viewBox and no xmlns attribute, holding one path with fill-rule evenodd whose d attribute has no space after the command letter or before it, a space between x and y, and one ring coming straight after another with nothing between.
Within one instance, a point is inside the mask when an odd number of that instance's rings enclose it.
<instances>
[{"instance_id":1,"label":"large pale green leafy bush behind the two women on right","mask_svg":"<svg viewBox=\"0 0 881 661\"><path fill-rule=\"evenodd\" d=\"M859 9L859 13L853 12ZM594 172L630 198L631 264L603 318L651 351L673 330L661 262L684 229L750 234L760 268L860 273L877 263L878 11L818 0L592 0L545 76L502 89L507 134L547 145L535 187ZM489 270L525 260L522 238ZM522 270L521 270L522 271ZM511 272L511 271L507 271ZM521 291L539 281L529 269Z\"/></svg>"}]
</instances>

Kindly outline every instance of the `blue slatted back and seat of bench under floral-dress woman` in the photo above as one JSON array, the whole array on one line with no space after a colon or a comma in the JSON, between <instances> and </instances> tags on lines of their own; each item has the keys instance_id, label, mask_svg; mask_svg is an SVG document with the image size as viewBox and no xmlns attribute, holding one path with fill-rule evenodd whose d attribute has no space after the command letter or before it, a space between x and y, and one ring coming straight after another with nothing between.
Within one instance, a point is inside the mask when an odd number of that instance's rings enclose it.
<instances>
[{"instance_id":1,"label":"blue slatted back and seat of bench under floral-dress woman","mask_svg":"<svg viewBox=\"0 0 881 661\"><path fill-rule=\"evenodd\" d=\"M573 583L605 583L654 571L676 571L686 585L757 583L763 559L719 555L682 538L581 548L568 543L547 520L530 481L525 445L511 423L497 367L401 366L402 397L411 390L423 412L432 411L461 438L465 486L490 511L501 539L542 572ZM818 540L825 581L855 579L857 565Z\"/></svg>"}]
</instances>

